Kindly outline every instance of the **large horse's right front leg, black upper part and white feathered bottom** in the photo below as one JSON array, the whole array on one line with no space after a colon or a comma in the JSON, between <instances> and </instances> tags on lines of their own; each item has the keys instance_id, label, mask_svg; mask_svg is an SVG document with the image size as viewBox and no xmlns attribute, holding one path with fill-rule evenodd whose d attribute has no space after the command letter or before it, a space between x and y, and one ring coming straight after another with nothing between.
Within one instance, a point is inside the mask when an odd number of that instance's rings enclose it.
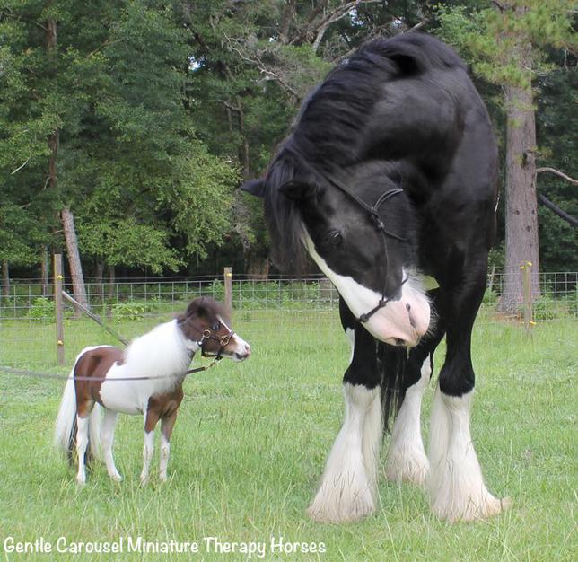
<instances>
[{"instance_id":1,"label":"large horse's right front leg, black upper part and white feathered bottom","mask_svg":"<svg viewBox=\"0 0 578 562\"><path fill-rule=\"evenodd\" d=\"M461 288L447 291L442 306L447 353L432 407L428 487L434 514L451 522L488 517L509 503L487 490L469 430L475 382L471 331L485 281L481 270Z\"/></svg>"}]
</instances>

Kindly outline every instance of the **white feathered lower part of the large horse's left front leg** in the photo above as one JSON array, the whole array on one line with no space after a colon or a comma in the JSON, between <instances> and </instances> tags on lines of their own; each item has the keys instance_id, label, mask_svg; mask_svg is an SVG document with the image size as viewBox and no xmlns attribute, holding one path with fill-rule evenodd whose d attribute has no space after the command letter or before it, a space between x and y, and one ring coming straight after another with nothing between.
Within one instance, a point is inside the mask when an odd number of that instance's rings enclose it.
<instances>
[{"instance_id":1,"label":"white feathered lower part of the large horse's left front leg","mask_svg":"<svg viewBox=\"0 0 578 562\"><path fill-rule=\"evenodd\" d=\"M346 382L344 391L346 417L308 510L316 521L355 521L375 510L375 462L381 441L379 388L369 390Z\"/></svg>"}]
</instances>

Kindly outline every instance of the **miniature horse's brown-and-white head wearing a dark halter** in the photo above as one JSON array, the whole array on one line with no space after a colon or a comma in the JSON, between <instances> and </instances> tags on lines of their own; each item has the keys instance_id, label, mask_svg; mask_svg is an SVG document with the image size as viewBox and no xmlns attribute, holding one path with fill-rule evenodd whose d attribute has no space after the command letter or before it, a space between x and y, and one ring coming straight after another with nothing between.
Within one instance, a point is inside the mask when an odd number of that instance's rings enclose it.
<instances>
[{"instance_id":1,"label":"miniature horse's brown-and-white head wearing a dark halter","mask_svg":"<svg viewBox=\"0 0 578 562\"><path fill-rule=\"evenodd\" d=\"M223 306L206 296L192 301L177 319L183 337L200 347L203 356L229 357L243 361L250 345L229 328Z\"/></svg>"}]
</instances>

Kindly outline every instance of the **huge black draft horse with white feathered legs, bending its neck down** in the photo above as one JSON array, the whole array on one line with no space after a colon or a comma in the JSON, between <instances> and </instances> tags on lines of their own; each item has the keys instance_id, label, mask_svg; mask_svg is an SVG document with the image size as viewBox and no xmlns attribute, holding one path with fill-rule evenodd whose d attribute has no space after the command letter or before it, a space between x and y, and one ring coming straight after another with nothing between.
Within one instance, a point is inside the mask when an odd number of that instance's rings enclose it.
<instances>
[{"instance_id":1,"label":"huge black draft horse with white feathered legs, bending its neck down","mask_svg":"<svg viewBox=\"0 0 578 562\"><path fill-rule=\"evenodd\" d=\"M337 287L353 346L346 415L309 508L318 521L375 509L382 427L395 418L386 474L428 489L449 521L499 513L469 432L470 339L495 233L497 150L451 48L408 33L366 43L304 101L264 179L274 259L304 250ZM434 278L437 287L426 291ZM422 395L443 336L429 456Z\"/></svg>"}]
</instances>

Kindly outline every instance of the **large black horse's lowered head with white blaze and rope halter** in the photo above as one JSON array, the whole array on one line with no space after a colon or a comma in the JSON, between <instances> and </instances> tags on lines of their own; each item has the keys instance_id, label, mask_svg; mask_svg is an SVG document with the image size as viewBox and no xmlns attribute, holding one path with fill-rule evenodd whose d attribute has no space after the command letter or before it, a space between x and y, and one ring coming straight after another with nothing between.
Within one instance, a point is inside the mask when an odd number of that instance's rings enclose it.
<instances>
[{"instance_id":1,"label":"large black horse's lowered head with white blaze and rope halter","mask_svg":"<svg viewBox=\"0 0 578 562\"><path fill-rule=\"evenodd\" d=\"M297 233L351 312L375 338L413 347L429 327L430 307L409 277L415 263L412 208L386 173L383 164L373 162L339 178L328 173L306 177L296 173L278 182L279 174L272 167L266 180L253 180L243 189L266 198L267 221L277 250L282 249L284 238Z\"/></svg>"}]
</instances>

